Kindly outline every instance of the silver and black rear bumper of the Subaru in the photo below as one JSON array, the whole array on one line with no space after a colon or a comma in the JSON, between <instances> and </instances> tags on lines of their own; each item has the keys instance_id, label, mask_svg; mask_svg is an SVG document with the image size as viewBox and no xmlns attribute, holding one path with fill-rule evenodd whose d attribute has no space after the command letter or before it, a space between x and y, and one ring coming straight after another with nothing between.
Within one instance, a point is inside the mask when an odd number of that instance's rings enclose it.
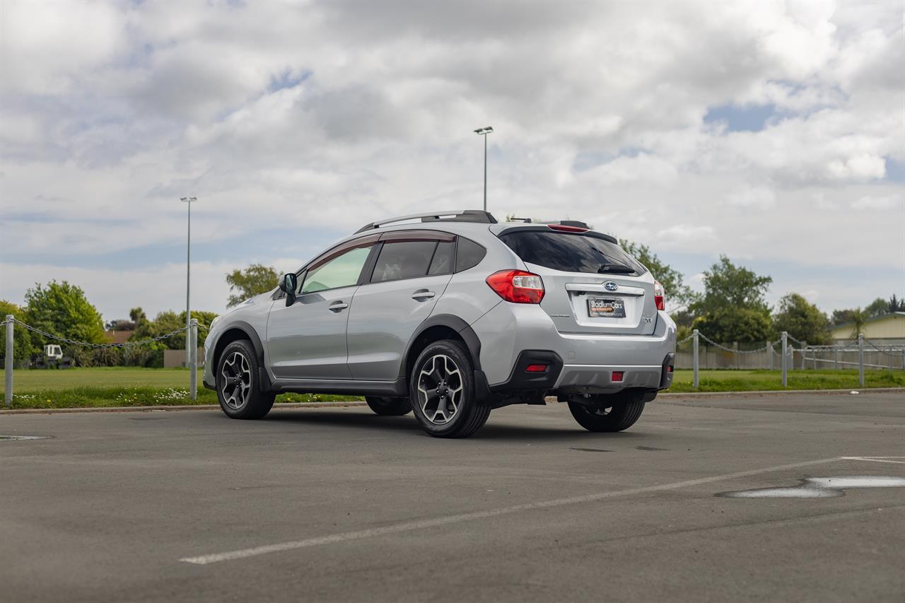
<instances>
[{"instance_id":1,"label":"silver and black rear bumper of the Subaru","mask_svg":"<svg viewBox=\"0 0 905 603\"><path fill-rule=\"evenodd\" d=\"M560 333L533 304L500 303L472 324L481 340L481 369L491 391L510 391L523 354L544 350L562 361L555 380L537 389L562 393L610 393L626 388L657 390L672 384L675 322L659 312L651 335ZM525 351L529 350L529 351ZM524 370L523 368L521 369ZM622 380L614 372L622 372Z\"/></svg>"}]
</instances>

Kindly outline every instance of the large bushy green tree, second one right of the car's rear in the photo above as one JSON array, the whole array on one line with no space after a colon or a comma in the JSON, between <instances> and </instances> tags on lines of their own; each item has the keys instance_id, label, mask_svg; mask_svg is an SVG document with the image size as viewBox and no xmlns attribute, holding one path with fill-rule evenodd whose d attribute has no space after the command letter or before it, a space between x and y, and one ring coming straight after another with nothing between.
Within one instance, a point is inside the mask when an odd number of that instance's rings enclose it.
<instances>
[{"instance_id":1,"label":"large bushy green tree, second one right of the car's rear","mask_svg":"<svg viewBox=\"0 0 905 603\"><path fill-rule=\"evenodd\" d=\"M704 273L704 294L691 303L694 328L711 340L762 341L773 334L764 299L773 279L737 266L725 255Z\"/></svg>"}]
</instances>

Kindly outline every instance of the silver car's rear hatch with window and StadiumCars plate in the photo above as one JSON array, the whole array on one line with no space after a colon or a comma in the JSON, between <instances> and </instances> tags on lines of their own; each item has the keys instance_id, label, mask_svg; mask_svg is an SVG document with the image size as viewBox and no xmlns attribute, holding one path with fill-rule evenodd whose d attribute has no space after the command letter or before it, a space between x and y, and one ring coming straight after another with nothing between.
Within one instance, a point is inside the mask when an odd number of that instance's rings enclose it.
<instances>
[{"instance_id":1,"label":"silver car's rear hatch with window and StadiumCars plate","mask_svg":"<svg viewBox=\"0 0 905 603\"><path fill-rule=\"evenodd\" d=\"M653 333L653 276L613 237L558 225L499 225L493 230L543 279L540 307L560 332Z\"/></svg>"}]
</instances>

